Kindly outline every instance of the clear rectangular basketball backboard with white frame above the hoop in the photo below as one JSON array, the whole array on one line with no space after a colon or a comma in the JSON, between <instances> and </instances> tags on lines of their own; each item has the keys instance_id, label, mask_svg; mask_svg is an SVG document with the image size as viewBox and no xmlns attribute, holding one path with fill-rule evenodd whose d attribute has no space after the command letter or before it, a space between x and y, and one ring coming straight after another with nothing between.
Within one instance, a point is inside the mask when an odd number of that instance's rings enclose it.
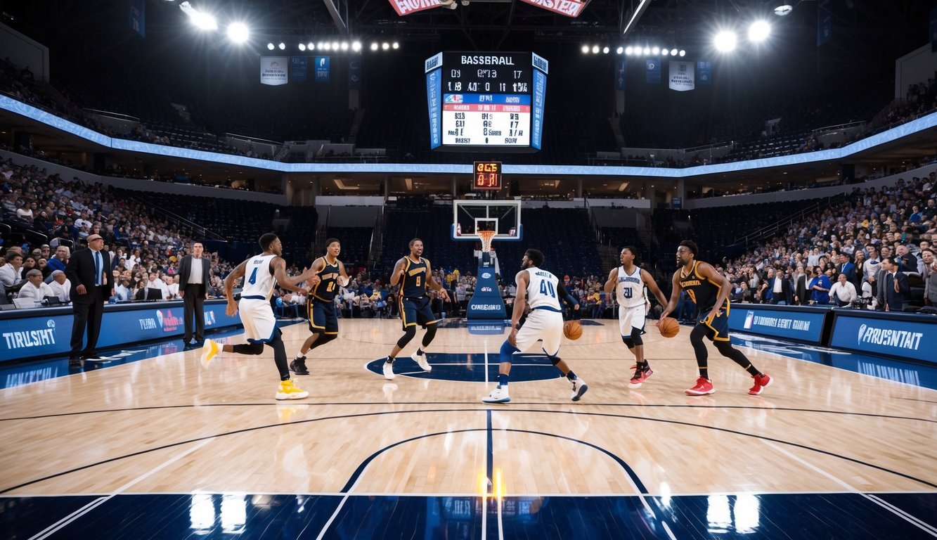
<instances>
[{"instance_id":1,"label":"clear rectangular basketball backboard with white frame above the hoop","mask_svg":"<svg viewBox=\"0 0 937 540\"><path fill-rule=\"evenodd\" d=\"M520 201L453 201L453 240L478 242L479 231L494 231L495 240L523 238Z\"/></svg>"}]
</instances>

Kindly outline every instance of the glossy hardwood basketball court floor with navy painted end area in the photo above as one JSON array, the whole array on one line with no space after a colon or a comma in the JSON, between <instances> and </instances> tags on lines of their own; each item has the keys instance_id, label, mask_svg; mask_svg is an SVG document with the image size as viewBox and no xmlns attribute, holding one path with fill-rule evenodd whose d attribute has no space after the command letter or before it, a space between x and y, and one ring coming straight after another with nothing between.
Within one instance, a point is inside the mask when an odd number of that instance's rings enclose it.
<instances>
[{"instance_id":1,"label":"glossy hardwood basketball court floor with navy painted end area","mask_svg":"<svg viewBox=\"0 0 937 540\"><path fill-rule=\"evenodd\" d=\"M222 494L241 494L251 509L243 521L277 497L319 497L323 505L318 520L295 531L257 514L254 535L243 537L258 538L433 537L429 525L414 533L412 523L396 519L408 515L408 504L417 515L457 519L460 501L466 525L450 526L451 537L541 537L530 520L505 525L511 512L500 503L511 502L514 517L527 508L529 517L547 498L550 516L578 507L577 519L624 513L664 522L650 532L619 522L618 529L599 528L602 534L587 521L541 523L553 537L734 537L717 534L713 512L735 523L726 531L745 535L752 531L738 522L752 504L757 537L937 535L937 392L744 349L774 378L752 397L748 374L710 346L717 392L689 397L683 391L696 367L687 327L671 339L648 328L655 373L631 390L632 355L617 322L600 323L585 326L577 341L564 340L560 351L588 383L579 402L545 358L531 355L513 368L512 402L483 404L503 336L463 327L439 329L432 372L406 357L414 339L396 363L402 374L385 381L378 359L401 331L399 321L377 320L340 321L339 338L309 356L312 375L294 377L310 394L298 401L275 401L269 349L257 357L221 353L208 369L191 351L2 390L0 497L7 511L0 530L4 537L174 537L158 532L141 509L182 504L174 512L187 524L195 497L217 508L228 500ZM305 323L284 328L290 357L306 335ZM170 499L133 503L130 495ZM110 510L113 516L136 512L138 525L149 524L127 531L102 525L109 522L103 517L88 521L114 497L126 505ZM375 510L375 500L387 498L393 510ZM496 500L497 512L489 507ZM36 512L11 513L11 502L25 501ZM675 501L682 510L671 515ZM771 514L769 503L783 512ZM615 509L622 504L627 511ZM34 516L50 505L58 514ZM792 519L792 511L801 517ZM843 512L863 528L831 534L841 532ZM382 525L343 532L356 519Z\"/></svg>"}]
</instances>

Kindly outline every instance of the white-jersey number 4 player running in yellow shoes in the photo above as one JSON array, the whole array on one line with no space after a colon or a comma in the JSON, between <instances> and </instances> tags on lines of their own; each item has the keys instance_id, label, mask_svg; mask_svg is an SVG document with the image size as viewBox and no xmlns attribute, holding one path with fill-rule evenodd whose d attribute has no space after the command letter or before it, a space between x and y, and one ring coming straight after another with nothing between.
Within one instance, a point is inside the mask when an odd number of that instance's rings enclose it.
<instances>
[{"instance_id":1,"label":"white-jersey number 4 player running in yellow shoes","mask_svg":"<svg viewBox=\"0 0 937 540\"><path fill-rule=\"evenodd\" d=\"M276 390L277 399L302 399L308 392L290 381L290 368L287 366L287 351L280 338L280 329L276 327L274 309L270 306L270 295L279 283L280 287L294 293L305 294L306 291L298 285L310 280L319 282L319 276L312 271L306 271L298 278L287 276L287 263L280 257L283 254L283 245L274 233L260 236L260 248L263 253L247 259L238 264L231 274L225 278L225 297L228 298L228 307L225 311L233 317L241 311L241 322L244 323L246 345L225 345L218 347L212 339L205 339L202 347L201 365L208 367L212 358L220 351L238 354L261 354L263 344L266 343L274 349L276 369L280 372L280 386ZM245 278L244 289L241 291L241 301L234 302L234 282Z\"/></svg>"}]
</instances>

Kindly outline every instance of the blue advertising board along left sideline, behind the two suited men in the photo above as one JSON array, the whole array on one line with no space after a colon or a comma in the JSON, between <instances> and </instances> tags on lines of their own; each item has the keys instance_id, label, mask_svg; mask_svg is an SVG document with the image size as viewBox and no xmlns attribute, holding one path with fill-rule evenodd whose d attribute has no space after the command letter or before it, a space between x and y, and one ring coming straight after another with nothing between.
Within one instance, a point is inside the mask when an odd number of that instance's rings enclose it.
<instances>
[{"instance_id":1,"label":"blue advertising board along left sideline, behind the two suited men","mask_svg":"<svg viewBox=\"0 0 937 540\"><path fill-rule=\"evenodd\" d=\"M205 302L205 329L240 324L237 317L225 314L226 302ZM0 358L15 360L49 354L67 354L70 350L71 308L17 310L17 318L0 319ZM125 306L106 306L101 320L99 349L115 345L135 346L150 339L178 337L185 334L182 302Z\"/></svg>"}]
</instances>

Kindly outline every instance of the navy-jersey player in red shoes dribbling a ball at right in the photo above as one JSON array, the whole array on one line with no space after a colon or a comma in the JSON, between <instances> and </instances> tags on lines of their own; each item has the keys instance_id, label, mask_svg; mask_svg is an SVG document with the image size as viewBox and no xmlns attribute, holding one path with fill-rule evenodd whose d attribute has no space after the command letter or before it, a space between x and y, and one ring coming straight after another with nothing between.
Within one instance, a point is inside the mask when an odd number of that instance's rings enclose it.
<instances>
[{"instance_id":1,"label":"navy-jersey player in red shoes dribbling a ball at right","mask_svg":"<svg viewBox=\"0 0 937 540\"><path fill-rule=\"evenodd\" d=\"M709 263L696 261L696 243L691 240L680 242L677 248L677 271L674 272L674 292L670 295L670 302L663 308L661 319L677 307L677 298L680 291L686 291L696 307L699 308L699 321L690 333L690 343L696 353L696 366L700 376L696 385L687 390L690 396L703 396L712 394L716 390L709 380L706 360L708 352L703 338L712 340L716 350L722 356L731 358L736 364L745 368L754 386L749 394L757 396L771 383L771 378L751 365L749 359L741 351L732 346L729 341L729 293L732 283L729 278L721 275ZM708 315L704 314L708 311Z\"/></svg>"}]
</instances>

